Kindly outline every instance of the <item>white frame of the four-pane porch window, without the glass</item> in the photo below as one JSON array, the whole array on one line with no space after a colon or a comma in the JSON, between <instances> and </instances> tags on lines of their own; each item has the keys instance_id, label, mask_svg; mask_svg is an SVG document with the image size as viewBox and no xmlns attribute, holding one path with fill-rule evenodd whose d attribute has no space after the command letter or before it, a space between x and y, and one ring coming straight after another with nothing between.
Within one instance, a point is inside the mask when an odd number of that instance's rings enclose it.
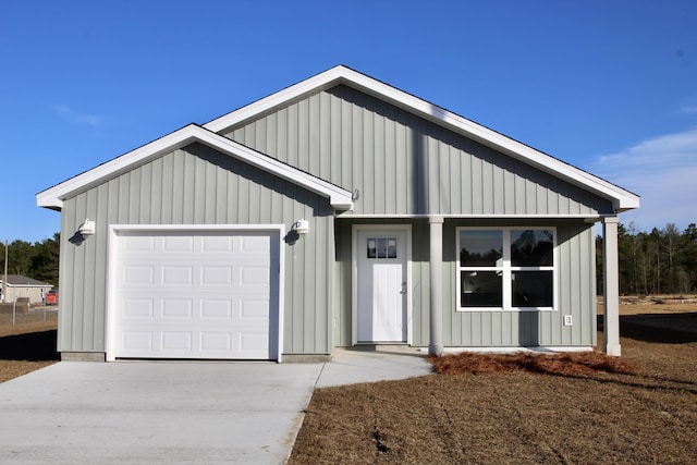
<instances>
[{"instance_id":1,"label":"white frame of the four-pane porch window, without the glass","mask_svg":"<svg viewBox=\"0 0 697 465\"><path fill-rule=\"evenodd\" d=\"M501 267L463 267L460 262L460 232L461 231L501 231L503 247L503 265ZM540 267L513 267L511 266L511 231L551 231L552 232L552 265ZM557 228L554 227L460 227L455 228L455 283L457 295L455 305L457 311L557 311L558 306L558 268L559 254L557 249ZM502 307L463 307L461 301L462 271L502 271ZM552 306L551 307L514 307L512 302L513 284L512 276L515 271L551 271L552 272Z\"/></svg>"}]
</instances>

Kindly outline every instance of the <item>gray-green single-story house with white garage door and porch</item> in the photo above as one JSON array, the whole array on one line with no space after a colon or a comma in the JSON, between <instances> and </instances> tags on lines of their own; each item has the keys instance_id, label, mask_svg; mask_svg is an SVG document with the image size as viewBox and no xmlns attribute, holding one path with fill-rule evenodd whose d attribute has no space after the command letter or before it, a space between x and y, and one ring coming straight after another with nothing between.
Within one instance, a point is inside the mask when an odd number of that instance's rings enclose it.
<instances>
[{"instance_id":1,"label":"gray-green single-story house with white garage door and porch","mask_svg":"<svg viewBox=\"0 0 697 465\"><path fill-rule=\"evenodd\" d=\"M639 197L345 66L37 194L61 211L63 359L588 350L595 223L620 355Z\"/></svg>"}]
</instances>

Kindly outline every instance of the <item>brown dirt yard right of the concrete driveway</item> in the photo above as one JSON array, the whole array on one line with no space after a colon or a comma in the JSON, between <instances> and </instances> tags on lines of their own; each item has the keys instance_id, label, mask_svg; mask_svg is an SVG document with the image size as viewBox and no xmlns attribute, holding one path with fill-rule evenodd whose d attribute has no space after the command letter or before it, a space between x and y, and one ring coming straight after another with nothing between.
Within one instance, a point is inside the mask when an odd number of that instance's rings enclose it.
<instances>
[{"instance_id":1,"label":"brown dirt yard right of the concrete driveway","mask_svg":"<svg viewBox=\"0 0 697 465\"><path fill-rule=\"evenodd\" d=\"M657 317L621 306L619 366L480 354L462 375L318 389L290 463L697 463L697 341L661 320L674 307L640 306Z\"/></svg>"}]
</instances>

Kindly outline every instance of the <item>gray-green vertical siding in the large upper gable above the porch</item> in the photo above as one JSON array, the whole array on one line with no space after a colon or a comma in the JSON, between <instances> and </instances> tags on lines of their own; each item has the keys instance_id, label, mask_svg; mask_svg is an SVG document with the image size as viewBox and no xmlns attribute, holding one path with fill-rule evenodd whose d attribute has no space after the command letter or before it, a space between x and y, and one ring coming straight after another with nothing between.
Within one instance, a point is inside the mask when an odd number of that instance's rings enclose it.
<instances>
[{"instance_id":1,"label":"gray-green vertical siding in the large upper gable above the porch","mask_svg":"<svg viewBox=\"0 0 697 465\"><path fill-rule=\"evenodd\" d=\"M339 85L222 135L360 192L351 215L594 216L609 200Z\"/></svg>"}]
</instances>

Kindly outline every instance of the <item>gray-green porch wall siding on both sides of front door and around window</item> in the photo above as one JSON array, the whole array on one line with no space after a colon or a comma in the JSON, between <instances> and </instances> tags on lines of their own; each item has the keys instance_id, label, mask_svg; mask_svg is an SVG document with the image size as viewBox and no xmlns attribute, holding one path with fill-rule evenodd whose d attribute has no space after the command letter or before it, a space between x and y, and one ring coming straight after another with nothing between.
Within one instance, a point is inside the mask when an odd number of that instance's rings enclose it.
<instances>
[{"instance_id":1,"label":"gray-green porch wall siding on both sides of front door and around window","mask_svg":"<svg viewBox=\"0 0 697 465\"><path fill-rule=\"evenodd\" d=\"M338 307L337 345L352 344L351 230L353 224L404 224L407 220L337 221ZM429 225L412 224L412 344L429 343ZM457 236L460 227L557 229L557 291L554 311L458 311ZM582 221L472 221L447 219L443 225L443 344L450 347L592 346L596 345L596 283L594 227ZM573 325L563 325L571 315Z\"/></svg>"}]
</instances>

